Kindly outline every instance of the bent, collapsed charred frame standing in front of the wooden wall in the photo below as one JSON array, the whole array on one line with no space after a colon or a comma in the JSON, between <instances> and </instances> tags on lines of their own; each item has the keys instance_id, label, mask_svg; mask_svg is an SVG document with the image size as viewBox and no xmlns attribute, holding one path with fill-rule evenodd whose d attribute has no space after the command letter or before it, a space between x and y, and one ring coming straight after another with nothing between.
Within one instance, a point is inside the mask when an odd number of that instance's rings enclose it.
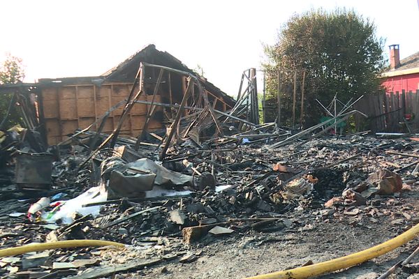
<instances>
[{"instance_id":1,"label":"bent, collapsed charred frame standing in front of the wooden wall","mask_svg":"<svg viewBox=\"0 0 419 279\"><path fill-rule=\"evenodd\" d=\"M149 103L150 107L149 111L147 112L144 126L142 127L142 133L138 135L137 141L135 142L134 148L136 150L138 150L142 138L147 133L147 126L149 125L149 120L152 119L152 116L156 111L156 107L158 107L154 103L154 100L156 98L156 93L159 91L159 88L161 86L163 74L166 72L186 77L186 89L184 89L184 92L182 93L181 104L178 107L175 118L172 120L170 124L170 128L168 128L168 133L166 134L166 137L162 139L163 146L160 155L160 160L163 160L166 157L166 151L168 151L168 148L172 143L172 138L174 135L177 135L177 137L181 137L182 135L183 137L186 137L186 135L189 135L189 132L191 132L191 130L195 128L196 132L198 133L198 137L196 137L194 141L196 142L196 144L199 144L199 135L201 130L205 130L209 126L212 126L213 123L216 127L215 135L223 135L223 129L219 121L220 116L226 117L226 120L233 119L239 120L241 122L244 121L242 119L238 119L235 116L230 116L229 114L217 114L219 113L219 111L214 110L213 105L210 104L210 101L208 100L208 95L210 92L203 88L203 84L201 84L200 80L195 75L166 66L154 65L150 63L140 63L140 68L138 70L137 76L135 77L135 81L133 83L129 96L126 100L119 122L117 123L116 128L112 130L112 133L110 133L110 135L108 135L108 137L98 146L96 151L103 149L105 146L110 146L111 148L115 146L124 121L126 121L126 118L130 114L134 105L138 103L138 98L144 95L145 91L147 90L145 87L145 81L147 80L146 73L149 73L151 70L159 70L159 77L157 78L156 84L153 89L152 101L151 103ZM136 89L136 86L138 86L138 89ZM188 104L191 104L192 107L188 107ZM168 106L170 108L173 107L173 105ZM186 109L186 107L188 107L188 109ZM194 120L189 119L191 116ZM105 121L105 119L106 118L103 117L102 123L103 121ZM186 127L182 129L182 132L179 132L179 123L182 119L189 120L186 121ZM210 121L205 121L206 119ZM103 127L102 124L101 127ZM101 130L98 130L97 134L100 133ZM91 153L91 156L94 156L95 153L96 152ZM87 160L85 160L84 163L86 163L91 158L91 156L87 158ZM84 165L84 163L82 165Z\"/></svg>"}]
</instances>

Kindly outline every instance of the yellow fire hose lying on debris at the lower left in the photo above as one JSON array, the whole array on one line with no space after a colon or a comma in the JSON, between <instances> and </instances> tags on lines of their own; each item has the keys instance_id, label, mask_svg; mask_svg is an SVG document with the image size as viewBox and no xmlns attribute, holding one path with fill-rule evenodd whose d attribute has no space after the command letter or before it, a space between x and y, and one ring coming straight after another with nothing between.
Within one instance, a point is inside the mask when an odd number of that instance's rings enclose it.
<instances>
[{"instance_id":1,"label":"yellow fire hose lying on debris at the lower left","mask_svg":"<svg viewBox=\"0 0 419 279\"><path fill-rule=\"evenodd\" d=\"M20 255L27 252L36 252L43 250L51 250L58 248L75 248L75 247L88 247L88 246L116 246L124 248L125 244L117 243L113 241L103 240L89 240L89 239L78 239L78 240L64 240L48 243L36 243L28 244L20 247L6 248L0 250L0 257L9 257L13 255Z\"/></svg>"}]
</instances>

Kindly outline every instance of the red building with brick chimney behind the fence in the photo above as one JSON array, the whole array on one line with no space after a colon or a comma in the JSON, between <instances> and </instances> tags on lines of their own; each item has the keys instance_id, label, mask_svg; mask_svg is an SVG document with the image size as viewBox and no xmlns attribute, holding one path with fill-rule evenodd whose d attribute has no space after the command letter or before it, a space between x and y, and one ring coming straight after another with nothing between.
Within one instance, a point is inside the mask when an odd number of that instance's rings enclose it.
<instances>
[{"instance_id":1,"label":"red building with brick chimney behind the fence","mask_svg":"<svg viewBox=\"0 0 419 279\"><path fill-rule=\"evenodd\" d=\"M381 77L388 93L416 92L419 89L419 52L400 60L399 45L390 45L390 70Z\"/></svg>"}]
</instances>

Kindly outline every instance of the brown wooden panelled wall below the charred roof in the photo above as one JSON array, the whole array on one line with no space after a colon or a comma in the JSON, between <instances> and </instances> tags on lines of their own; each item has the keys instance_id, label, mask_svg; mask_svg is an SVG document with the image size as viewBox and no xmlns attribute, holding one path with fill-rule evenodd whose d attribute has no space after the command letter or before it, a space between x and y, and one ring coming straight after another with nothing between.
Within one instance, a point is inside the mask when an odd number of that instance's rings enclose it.
<instances>
[{"instance_id":1,"label":"brown wooden panelled wall below the charred roof","mask_svg":"<svg viewBox=\"0 0 419 279\"><path fill-rule=\"evenodd\" d=\"M78 128L86 128L93 123L97 117L103 116L110 107L122 100L126 100L131 91L132 84L102 84L94 86L87 85L54 85L42 89L43 112L45 127L47 130L48 144L57 144L66 139L67 134L74 133ZM138 86L134 93L138 92ZM152 101L152 95L142 93L139 100ZM156 103L163 103L160 95L156 95ZM142 132L149 105L135 104L131 115L126 118L121 129L122 135L137 137ZM124 104L117 110L110 113L103 126L103 133L111 133L117 125ZM163 110L157 106L155 111ZM92 131L100 125L91 128ZM149 123L149 130L162 128L162 123L152 119Z\"/></svg>"}]
</instances>

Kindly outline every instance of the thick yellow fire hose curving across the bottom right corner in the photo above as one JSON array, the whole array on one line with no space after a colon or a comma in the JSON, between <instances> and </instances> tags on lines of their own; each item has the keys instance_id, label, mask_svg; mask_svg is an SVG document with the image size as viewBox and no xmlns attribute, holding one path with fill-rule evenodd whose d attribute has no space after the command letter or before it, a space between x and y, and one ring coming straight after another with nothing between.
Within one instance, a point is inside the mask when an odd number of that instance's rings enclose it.
<instances>
[{"instance_id":1,"label":"thick yellow fire hose curving across the bottom right corner","mask_svg":"<svg viewBox=\"0 0 419 279\"><path fill-rule=\"evenodd\" d=\"M391 250L395 250L395 248L398 248L414 239L418 234L419 224L394 239L385 241L384 243L378 244L377 246L367 250L355 252L354 254L345 257L338 257L337 259L331 259L327 262L320 262L318 264L302 266L296 269L288 269L286 271L253 276L247 279L302 279L319 276L339 269L346 269L350 266L354 266L356 264L366 262L369 259L374 259L375 257L384 255L386 252L390 252Z\"/></svg>"}]
</instances>

